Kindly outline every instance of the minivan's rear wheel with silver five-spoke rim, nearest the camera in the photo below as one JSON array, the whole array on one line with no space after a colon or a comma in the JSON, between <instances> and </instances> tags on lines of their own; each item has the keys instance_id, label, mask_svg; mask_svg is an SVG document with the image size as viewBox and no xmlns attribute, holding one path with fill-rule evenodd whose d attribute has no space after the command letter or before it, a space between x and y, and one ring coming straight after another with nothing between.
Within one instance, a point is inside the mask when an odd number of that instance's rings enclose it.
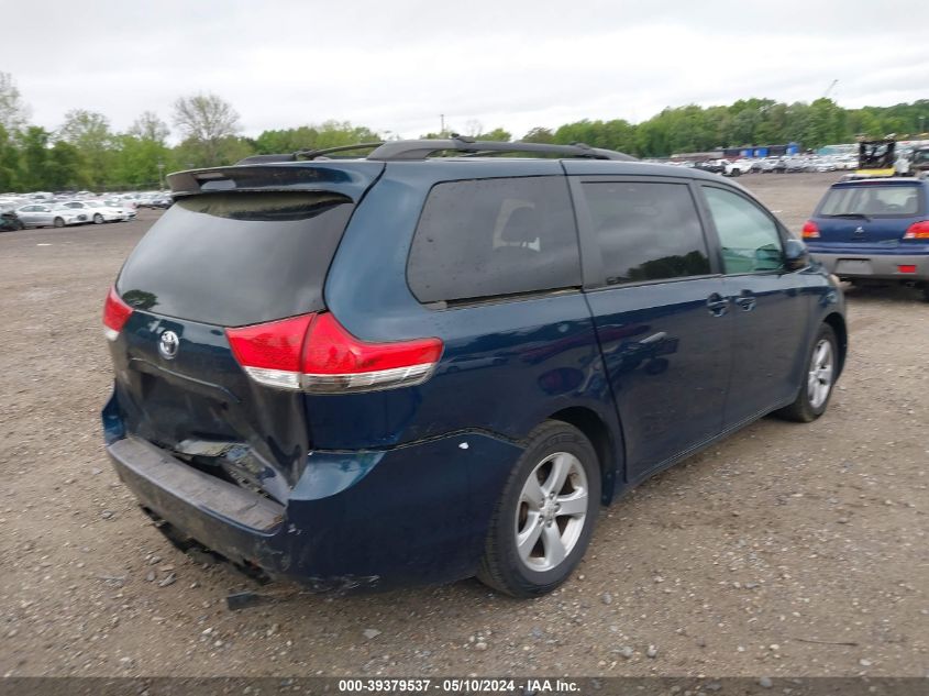
<instances>
[{"instance_id":1,"label":"minivan's rear wheel with silver five-spoke rim, nearest the camera","mask_svg":"<svg viewBox=\"0 0 929 696\"><path fill-rule=\"evenodd\" d=\"M600 467L577 428L545 421L532 433L494 509L478 579L538 597L577 567L597 521Z\"/></svg>"}]
</instances>

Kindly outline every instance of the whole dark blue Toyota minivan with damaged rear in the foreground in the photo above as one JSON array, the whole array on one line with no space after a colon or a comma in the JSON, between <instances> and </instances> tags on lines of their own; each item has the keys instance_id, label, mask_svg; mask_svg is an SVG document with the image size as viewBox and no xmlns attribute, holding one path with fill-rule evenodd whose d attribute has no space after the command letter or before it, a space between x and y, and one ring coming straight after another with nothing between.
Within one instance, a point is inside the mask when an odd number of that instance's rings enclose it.
<instances>
[{"instance_id":1,"label":"whole dark blue Toyota minivan with damaged rear in the foreground","mask_svg":"<svg viewBox=\"0 0 929 696\"><path fill-rule=\"evenodd\" d=\"M826 410L842 292L741 186L579 144L343 154L170 175L107 297L107 450L180 548L540 595L601 505Z\"/></svg>"}]
</instances>

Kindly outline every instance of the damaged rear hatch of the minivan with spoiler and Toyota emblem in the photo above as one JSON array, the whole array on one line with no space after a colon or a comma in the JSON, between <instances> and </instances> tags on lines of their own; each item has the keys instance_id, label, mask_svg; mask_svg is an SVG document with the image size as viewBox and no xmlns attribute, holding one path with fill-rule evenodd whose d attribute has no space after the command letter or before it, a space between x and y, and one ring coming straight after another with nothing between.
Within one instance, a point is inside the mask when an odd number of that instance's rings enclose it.
<instances>
[{"instance_id":1,"label":"damaged rear hatch of the minivan with spoiler and Toyota emblem","mask_svg":"<svg viewBox=\"0 0 929 696\"><path fill-rule=\"evenodd\" d=\"M342 234L379 163L172 175L176 202L114 288L109 333L125 430L284 502L312 446L303 396L250 379L226 330L323 309ZM111 300L112 301L112 300Z\"/></svg>"}]
</instances>

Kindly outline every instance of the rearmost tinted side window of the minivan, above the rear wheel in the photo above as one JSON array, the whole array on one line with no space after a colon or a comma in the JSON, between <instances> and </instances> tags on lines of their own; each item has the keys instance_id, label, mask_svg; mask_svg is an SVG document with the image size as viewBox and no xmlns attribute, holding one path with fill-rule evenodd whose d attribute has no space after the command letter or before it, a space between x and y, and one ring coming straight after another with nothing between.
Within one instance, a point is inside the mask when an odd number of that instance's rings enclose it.
<instances>
[{"instance_id":1,"label":"rearmost tinted side window of the minivan, above the rear wheel","mask_svg":"<svg viewBox=\"0 0 929 696\"><path fill-rule=\"evenodd\" d=\"M564 177L449 181L432 188L407 266L420 302L580 285Z\"/></svg>"}]
</instances>

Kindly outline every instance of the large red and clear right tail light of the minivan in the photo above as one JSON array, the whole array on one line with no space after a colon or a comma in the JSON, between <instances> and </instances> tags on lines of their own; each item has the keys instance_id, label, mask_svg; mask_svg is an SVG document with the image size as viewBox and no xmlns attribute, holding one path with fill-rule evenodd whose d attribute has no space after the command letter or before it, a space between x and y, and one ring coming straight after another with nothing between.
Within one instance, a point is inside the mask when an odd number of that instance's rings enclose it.
<instances>
[{"instance_id":1,"label":"large red and clear right tail light of the minivan","mask_svg":"<svg viewBox=\"0 0 929 696\"><path fill-rule=\"evenodd\" d=\"M312 394L422 384L442 355L439 339L360 341L328 312L226 329L235 360L255 382Z\"/></svg>"}]
</instances>

